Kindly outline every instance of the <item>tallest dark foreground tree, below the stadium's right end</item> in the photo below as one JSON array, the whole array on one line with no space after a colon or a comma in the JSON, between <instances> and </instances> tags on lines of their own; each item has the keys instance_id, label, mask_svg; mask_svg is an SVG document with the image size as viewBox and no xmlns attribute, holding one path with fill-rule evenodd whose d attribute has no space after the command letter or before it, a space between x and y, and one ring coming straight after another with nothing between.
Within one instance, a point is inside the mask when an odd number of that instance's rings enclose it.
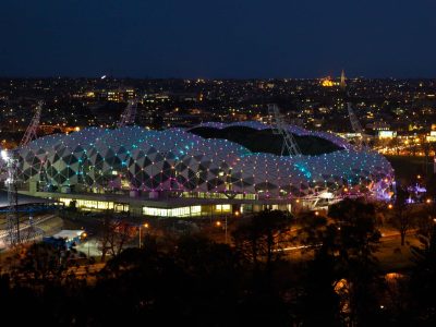
<instances>
[{"instance_id":1,"label":"tallest dark foreground tree, below the stadium's right end","mask_svg":"<svg viewBox=\"0 0 436 327\"><path fill-rule=\"evenodd\" d=\"M310 230L314 226L316 232ZM307 225L303 222L302 235L305 238L303 243L315 251L312 266L326 269L325 276L315 278L316 290L331 301L335 299L332 291L340 295L339 305L346 324L374 324L379 310L379 271L374 253L380 238L374 206L344 199L329 208L327 218L316 221L316 217L312 217ZM316 296L316 292L312 296ZM331 311L329 317L335 318Z\"/></svg>"}]
</instances>

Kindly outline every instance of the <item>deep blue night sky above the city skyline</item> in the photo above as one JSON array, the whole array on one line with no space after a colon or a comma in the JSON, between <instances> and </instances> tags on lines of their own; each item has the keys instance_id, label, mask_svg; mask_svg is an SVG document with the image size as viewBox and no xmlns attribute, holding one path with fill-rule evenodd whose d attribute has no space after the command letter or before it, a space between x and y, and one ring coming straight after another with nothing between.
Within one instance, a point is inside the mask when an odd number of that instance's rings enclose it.
<instances>
[{"instance_id":1,"label":"deep blue night sky above the city skyline","mask_svg":"<svg viewBox=\"0 0 436 327\"><path fill-rule=\"evenodd\" d=\"M436 77L435 0L0 0L0 76Z\"/></svg>"}]
</instances>

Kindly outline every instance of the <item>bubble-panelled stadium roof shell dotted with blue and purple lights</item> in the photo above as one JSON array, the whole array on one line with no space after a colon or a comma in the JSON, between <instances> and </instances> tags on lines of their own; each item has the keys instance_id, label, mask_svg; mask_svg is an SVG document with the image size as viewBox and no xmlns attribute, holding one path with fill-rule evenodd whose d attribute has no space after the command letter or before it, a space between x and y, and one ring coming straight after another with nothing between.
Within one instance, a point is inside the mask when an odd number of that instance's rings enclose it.
<instances>
[{"instance_id":1,"label":"bubble-panelled stadium roof shell dotted with blue and purple lights","mask_svg":"<svg viewBox=\"0 0 436 327\"><path fill-rule=\"evenodd\" d=\"M267 129L258 122L243 122ZM202 126L225 129L222 123ZM315 135L335 143L337 150L314 156L252 153L222 138L205 138L190 130L149 131L138 126L118 130L90 128L69 135L38 138L20 148L21 178L44 172L55 186L83 184L143 191L195 191L312 196L342 187L386 187L393 178L380 155L359 150L342 138L289 126L298 135Z\"/></svg>"}]
</instances>

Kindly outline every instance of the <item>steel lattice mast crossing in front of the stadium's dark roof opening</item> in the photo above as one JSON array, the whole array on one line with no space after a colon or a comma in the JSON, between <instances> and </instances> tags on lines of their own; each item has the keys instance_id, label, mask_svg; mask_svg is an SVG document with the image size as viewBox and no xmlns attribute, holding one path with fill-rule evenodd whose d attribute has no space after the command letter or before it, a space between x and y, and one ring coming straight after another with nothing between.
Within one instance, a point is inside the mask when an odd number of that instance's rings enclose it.
<instances>
[{"instance_id":1,"label":"steel lattice mast crossing in front of the stadium's dark roof opening","mask_svg":"<svg viewBox=\"0 0 436 327\"><path fill-rule=\"evenodd\" d=\"M284 153L288 153L289 156L300 156L300 147L296 144L292 133L289 132L289 129L284 123L283 117L280 113L279 107L275 104L269 104L268 114L271 118L270 124L272 128L272 133L276 135L281 135L283 137L281 155L283 156Z\"/></svg>"}]
</instances>

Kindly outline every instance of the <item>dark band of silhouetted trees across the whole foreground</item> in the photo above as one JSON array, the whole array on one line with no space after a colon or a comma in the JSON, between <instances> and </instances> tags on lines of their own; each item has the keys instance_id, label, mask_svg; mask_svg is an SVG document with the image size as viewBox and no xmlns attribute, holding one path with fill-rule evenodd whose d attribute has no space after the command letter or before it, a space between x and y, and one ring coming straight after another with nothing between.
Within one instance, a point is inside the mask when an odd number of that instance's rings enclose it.
<instances>
[{"instance_id":1,"label":"dark band of silhouetted trees across the whole foreground","mask_svg":"<svg viewBox=\"0 0 436 327\"><path fill-rule=\"evenodd\" d=\"M413 268L387 274L375 217L344 201L328 217L261 213L230 245L147 234L97 272L74 250L33 244L4 261L0 307L15 326L435 326L435 225ZM290 261L291 244L308 259Z\"/></svg>"}]
</instances>

